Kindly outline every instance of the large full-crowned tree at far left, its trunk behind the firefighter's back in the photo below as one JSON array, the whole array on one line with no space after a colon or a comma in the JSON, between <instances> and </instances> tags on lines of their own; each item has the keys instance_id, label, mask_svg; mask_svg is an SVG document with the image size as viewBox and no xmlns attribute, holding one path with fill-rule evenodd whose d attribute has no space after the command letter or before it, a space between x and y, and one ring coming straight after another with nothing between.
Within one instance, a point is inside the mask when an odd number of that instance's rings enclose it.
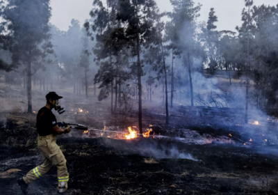
<instances>
[{"instance_id":1,"label":"large full-crowned tree at far left, its trunk behind the firefighter's back","mask_svg":"<svg viewBox=\"0 0 278 195\"><path fill-rule=\"evenodd\" d=\"M31 77L42 67L47 54L53 53L49 42L49 0L8 0L7 6L1 11L1 17L1 24L11 38L8 48L13 63L26 66L28 113L31 113Z\"/></svg>"}]
</instances>

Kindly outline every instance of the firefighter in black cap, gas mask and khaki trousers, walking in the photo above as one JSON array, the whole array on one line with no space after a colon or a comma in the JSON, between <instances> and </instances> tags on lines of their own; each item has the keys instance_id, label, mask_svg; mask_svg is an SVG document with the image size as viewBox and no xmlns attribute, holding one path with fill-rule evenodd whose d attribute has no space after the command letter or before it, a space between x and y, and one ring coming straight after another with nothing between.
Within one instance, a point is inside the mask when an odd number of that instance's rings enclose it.
<instances>
[{"instance_id":1,"label":"firefighter in black cap, gas mask and khaki trousers, walking","mask_svg":"<svg viewBox=\"0 0 278 195\"><path fill-rule=\"evenodd\" d=\"M66 165L67 161L56 143L56 135L69 133L71 126L66 127L65 130L58 127L56 117L51 111L55 109L59 114L65 111L60 107L60 99L63 97L52 91L46 95L46 98L47 104L38 111L36 122L38 131L37 146L42 154L43 162L40 166L36 166L29 171L26 176L17 180L24 194L27 194L28 185L47 173L53 164L57 166L58 192L64 193L67 190L67 182L69 180L69 173L67 172Z\"/></svg>"}]
</instances>

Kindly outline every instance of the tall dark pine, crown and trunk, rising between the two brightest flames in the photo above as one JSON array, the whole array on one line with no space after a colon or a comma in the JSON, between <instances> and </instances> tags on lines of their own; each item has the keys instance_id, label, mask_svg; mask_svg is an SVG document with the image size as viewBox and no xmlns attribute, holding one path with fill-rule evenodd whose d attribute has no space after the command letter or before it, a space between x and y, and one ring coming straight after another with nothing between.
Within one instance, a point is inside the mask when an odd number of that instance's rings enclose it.
<instances>
[{"instance_id":1,"label":"tall dark pine, crown and trunk, rising between the two brightest flames","mask_svg":"<svg viewBox=\"0 0 278 195\"><path fill-rule=\"evenodd\" d=\"M133 72L136 72L138 81L138 122L139 132L142 134L142 81L144 75L142 70L142 47L143 42L151 35L153 20L157 12L156 2L154 0L120 0L120 12L117 20L126 24L122 27L124 35L129 42L126 42L131 48L131 55L137 58L136 65L132 66Z\"/></svg>"}]
</instances>

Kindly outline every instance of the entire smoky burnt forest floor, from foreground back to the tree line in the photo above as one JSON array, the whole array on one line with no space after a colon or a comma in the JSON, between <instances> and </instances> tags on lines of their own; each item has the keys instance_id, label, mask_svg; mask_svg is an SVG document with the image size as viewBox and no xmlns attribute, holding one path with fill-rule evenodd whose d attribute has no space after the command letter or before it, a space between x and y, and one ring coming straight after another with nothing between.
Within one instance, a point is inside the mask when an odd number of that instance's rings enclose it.
<instances>
[{"instance_id":1,"label":"entire smoky burnt forest floor, from foreground back to the tree line","mask_svg":"<svg viewBox=\"0 0 278 195\"><path fill-rule=\"evenodd\" d=\"M44 106L44 92L35 91L34 113L26 114L22 92L3 91L10 107L0 114L0 159L34 143L35 112ZM66 113L54 112L58 120L90 128L58 137L67 194L278 194L277 122L244 125L231 109L174 107L165 125L163 104L143 102L143 130L152 125L154 134L126 140L121 132L138 127L136 111L111 115L109 101L63 96ZM41 162L36 147L0 160L0 194L22 194L17 178ZM56 178L54 166L28 194L56 194Z\"/></svg>"}]
</instances>

